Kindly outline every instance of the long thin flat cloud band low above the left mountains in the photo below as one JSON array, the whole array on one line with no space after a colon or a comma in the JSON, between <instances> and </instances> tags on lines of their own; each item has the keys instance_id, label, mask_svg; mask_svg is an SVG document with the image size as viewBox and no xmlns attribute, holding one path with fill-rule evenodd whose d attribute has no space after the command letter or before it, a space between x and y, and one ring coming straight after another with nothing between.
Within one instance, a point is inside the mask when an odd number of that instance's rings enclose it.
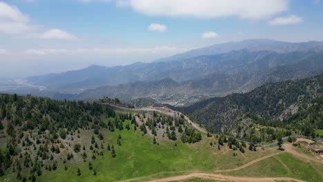
<instances>
[{"instance_id":1,"label":"long thin flat cloud band low above the left mountains","mask_svg":"<svg viewBox=\"0 0 323 182\"><path fill-rule=\"evenodd\" d=\"M188 48L173 46L159 46L155 48L85 48L85 49L29 49L24 54L46 56L53 54L175 54L184 52Z\"/></svg>"}]
</instances>

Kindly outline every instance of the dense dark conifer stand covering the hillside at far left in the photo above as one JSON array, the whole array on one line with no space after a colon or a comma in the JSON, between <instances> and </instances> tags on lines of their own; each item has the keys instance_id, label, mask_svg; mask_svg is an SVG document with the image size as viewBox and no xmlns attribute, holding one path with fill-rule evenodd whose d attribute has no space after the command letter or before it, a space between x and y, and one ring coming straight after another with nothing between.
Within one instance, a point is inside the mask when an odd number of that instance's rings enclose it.
<instances>
[{"instance_id":1,"label":"dense dark conifer stand covering the hillside at far left","mask_svg":"<svg viewBox=\"0 0 323 182\"><path fill-rule=\"evenodd\" d=\"M56 170L55 156L66 148L68 136L79 137L79 128L98 131L99 117L115 117L115 111L107 105L83 101L55 101L39 97L19 97L17 94L0 94L0 130L6 122L6 149L0 151L0 174L12 167L17 179L23 168L31 169L28 179L35 179L42 170ZM128 115L122 115L120 119ZM103 139L102 134L99 134ZM69 144L70 145L70 144ZM81 145L75 144L80 152ZM72 159L68 153L67 159Z\"/></svg>"}]
</instances>

